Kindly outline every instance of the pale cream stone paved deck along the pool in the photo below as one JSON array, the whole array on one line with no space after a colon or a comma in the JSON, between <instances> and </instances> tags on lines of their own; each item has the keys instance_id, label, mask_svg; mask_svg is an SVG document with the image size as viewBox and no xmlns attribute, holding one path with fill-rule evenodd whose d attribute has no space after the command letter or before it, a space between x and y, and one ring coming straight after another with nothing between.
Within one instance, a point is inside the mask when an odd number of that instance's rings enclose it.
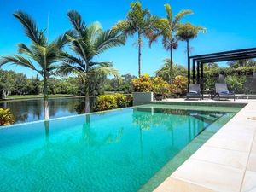
<instances>
[{"instance_id":1,"label":"pale cream stone paved deck along the pool","mask_svg":"<svg viewBox=\"0 0 256 192\"><path fill-rule=\"evenodd\" d=\"M168 99L164 102L191 101ZM256 191L256 120L248 119L256 116L256 100L200 102L247 105L154 191Z\"/></svg>"}]
</instances>

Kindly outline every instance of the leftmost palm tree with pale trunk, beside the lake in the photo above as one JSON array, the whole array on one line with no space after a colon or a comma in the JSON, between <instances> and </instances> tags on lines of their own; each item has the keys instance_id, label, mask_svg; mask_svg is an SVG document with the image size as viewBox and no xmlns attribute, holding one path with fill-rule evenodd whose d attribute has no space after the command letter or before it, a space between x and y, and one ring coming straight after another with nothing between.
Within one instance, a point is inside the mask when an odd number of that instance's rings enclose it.
<instances>
[{"instance_id":1,"label":"leftmost palm tree with pale trunk, beside the lake","mask_svg":"<svg viewBox=\"0 0 256 192\"><path fill-rule=\"evenodd\" d=\"M30 15L22 11L14 14L15 18L20 21L24 27L26 36L31 39L32 44L18 44L19 54L3 56L0 61L0 67L6 63L13 63L27 67L39 73L44 79L44 119L49 119L48 106L48 79L55 73L57 68L56 62L59 61L61 49L67 43L65 35L56 38L49 43L45 36L45 30L39 30L38 24L32 20ZM69 34L70 32L67 32ZM25 55L25 57L23 56Z\"/></svg>"}]
</instances>

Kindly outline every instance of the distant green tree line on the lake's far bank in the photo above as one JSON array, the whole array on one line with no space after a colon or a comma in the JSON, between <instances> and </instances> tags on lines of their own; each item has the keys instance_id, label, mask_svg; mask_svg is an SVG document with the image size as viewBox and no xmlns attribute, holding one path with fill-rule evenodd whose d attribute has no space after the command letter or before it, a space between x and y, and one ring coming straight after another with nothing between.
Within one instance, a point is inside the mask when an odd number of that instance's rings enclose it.
<instances>
[{"instance_id":1,"label":"distant green tree line on the lake's far bank","mask_svg":"<svg viewBox=\"0 0 256 192\"><path fill-rule=\"evenodd\" d=\"M101 76L95 78L95 84L91 87L91 96L99 96L104 91L131 93L131 79L136 76L122 75L119 79ZM48 94L70 94L84 96L84 84L78 77L62 77L49 79ZM91 84L92 85L92 84ZM0 96L6 98L9 95L38 95L43 93L44 82L37 75L27 78L24 73L15 73L0 69Z\"/></svg>"}]
</instances>

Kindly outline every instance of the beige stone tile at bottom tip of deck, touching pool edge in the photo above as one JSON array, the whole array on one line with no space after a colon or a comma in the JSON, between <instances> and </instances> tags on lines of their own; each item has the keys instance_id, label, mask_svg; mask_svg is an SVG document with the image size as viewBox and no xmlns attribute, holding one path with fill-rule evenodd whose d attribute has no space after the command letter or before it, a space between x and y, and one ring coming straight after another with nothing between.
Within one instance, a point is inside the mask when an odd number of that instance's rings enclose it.
<instances>
[{"instance_id":1,"label":"beige stone tile at bottom tip of deck, touching pool edge","mask_svg":"<svg viewBox=\"0 0 256 192\"><path fill-rule=\"evenodd\" d=\"M169 177L164 183L161 183L154 192L212 192L211 189L206 189L193 183L184 182L182 180Z\"/></svg>"}]
</instances>

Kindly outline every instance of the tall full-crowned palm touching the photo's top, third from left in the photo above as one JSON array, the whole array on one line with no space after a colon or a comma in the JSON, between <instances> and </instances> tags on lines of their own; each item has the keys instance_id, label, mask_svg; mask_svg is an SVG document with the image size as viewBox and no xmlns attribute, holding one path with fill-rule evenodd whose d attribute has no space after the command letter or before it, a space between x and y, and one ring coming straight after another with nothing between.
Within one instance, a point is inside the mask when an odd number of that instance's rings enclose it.
<instances>
[{"instance_id":1,"label":"tall full-crowned palm touching the photo's top, third from left","mask_svg":"<svg viewBox=\"0 0 256 192\"><path fill-rule=\"evenodd\" d=\"M131 3L131 10L128 12L125 20L120 20L115 26L114 31L125 34L125 37L133 36L137 33L138 46L138 76L141 76L141 56L143 38L151 38L156 30L156 16L150 15L148 9L143 9L140 2Z\"/></svg>"}]
</instances>

